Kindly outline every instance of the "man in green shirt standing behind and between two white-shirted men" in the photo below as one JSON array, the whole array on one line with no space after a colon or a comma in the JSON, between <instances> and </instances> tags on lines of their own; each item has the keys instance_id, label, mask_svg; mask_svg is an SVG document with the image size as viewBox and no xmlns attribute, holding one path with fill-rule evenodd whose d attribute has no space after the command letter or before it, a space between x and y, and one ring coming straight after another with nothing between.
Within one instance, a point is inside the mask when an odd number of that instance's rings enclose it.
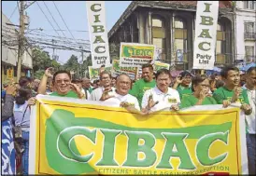
<instances>
[{"instance_id":1,"label":"man in green shirt standing behind and between two white-shirted men","mask_svg":"<svg viewBox=\"0 0 256 176\"><path fill-rule=\"evenodd\" d=\"M151 64L147 63L142 65L142 79L137 80L133 88L129 91L129 94L137 98L140 108L145 91L156 86L156 82L153 79L153 72L154 69Z\"/></svg>"}]
</instances>

